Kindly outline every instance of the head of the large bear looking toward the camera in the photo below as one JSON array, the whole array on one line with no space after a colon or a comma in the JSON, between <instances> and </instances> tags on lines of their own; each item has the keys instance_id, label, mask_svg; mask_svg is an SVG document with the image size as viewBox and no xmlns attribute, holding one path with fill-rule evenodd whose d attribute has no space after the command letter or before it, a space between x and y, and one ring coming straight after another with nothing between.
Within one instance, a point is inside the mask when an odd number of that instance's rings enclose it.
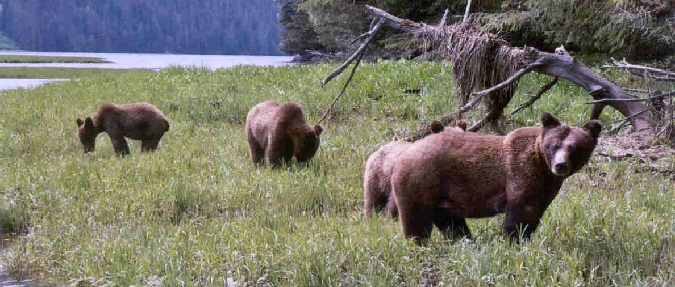
<instances>
[{"instance_id":1,"label":"head of the large bear looking toward the camera","mask_svg":"<svg viewBox=\"0 0 675 287\"><path fill-rule=\"evenodd\" d=\"M560 177L574 174L588 162L602 129L597 120L569 127L550 113L541 116L541 123L540 151L551 173Z\"/></svg>"}]
</instances>

